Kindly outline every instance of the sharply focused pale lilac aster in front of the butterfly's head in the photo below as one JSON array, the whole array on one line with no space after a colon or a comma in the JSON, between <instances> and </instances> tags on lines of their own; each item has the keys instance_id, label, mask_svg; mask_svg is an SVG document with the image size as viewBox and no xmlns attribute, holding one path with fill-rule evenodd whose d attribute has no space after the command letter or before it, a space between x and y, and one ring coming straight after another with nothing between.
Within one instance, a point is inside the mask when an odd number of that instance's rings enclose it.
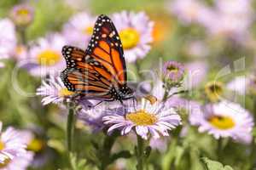
<instances>
[{"instance_id":1,"label":"sharply focused pale lilac aster in front of the butterfly's head","mask_svg":"<svg viewBox=\"0 0 256 170\"><path fill-rule=\"evenodd\" d=\"M181 118L173 108L166 108L159 102L151 104L147 99L142 99L136 108L129 107L125 116L113 114L104 116L102 120L110 126L108 133L119 129L125 135L134 129L143 139L148 139L149 133L154 139L160 138L160 135L169 136L168 130L181 124Z\"/></svg>"}]
</instances>

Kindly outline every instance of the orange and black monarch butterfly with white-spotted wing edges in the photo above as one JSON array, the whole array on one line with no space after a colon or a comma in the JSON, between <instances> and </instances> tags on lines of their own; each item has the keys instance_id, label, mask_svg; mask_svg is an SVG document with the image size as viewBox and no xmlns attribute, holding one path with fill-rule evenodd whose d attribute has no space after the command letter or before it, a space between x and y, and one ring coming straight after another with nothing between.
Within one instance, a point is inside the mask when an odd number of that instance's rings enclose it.
<instances>
[{"instance_id":1,"label":"orange and black monarch butterfly with white-spotted wing edges","mask_svg":"<svg viewBox=\"0 0 256 170\"><path fill-rule=\"evenodd\" d=\"M62 55L67 68L61 80L69 91L89 99L104 101L134 98L127 87L124 51L113 21L100 15L93 29L89 45L80 48L64 46Z\"/></svg>"}]
</instances>

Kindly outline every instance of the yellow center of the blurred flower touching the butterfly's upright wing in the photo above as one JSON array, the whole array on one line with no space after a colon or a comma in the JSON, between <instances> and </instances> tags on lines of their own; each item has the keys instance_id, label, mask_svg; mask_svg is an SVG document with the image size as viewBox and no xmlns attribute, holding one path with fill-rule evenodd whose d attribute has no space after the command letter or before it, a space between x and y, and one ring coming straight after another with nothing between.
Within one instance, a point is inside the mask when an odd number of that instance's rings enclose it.
<instances>
[{"instance_id":1,"label":"yellow center of the blurred flower touching the butterfly's upright wing","mask_svg":"<svg viewBox=\"0 0 256 170\"><path fill-rule=\"evenodd\" d=\"M125 49L134 48L140 40L140 34L133 28L126 28L119 32L121 42Z\"/></svg>"}]
</instances>

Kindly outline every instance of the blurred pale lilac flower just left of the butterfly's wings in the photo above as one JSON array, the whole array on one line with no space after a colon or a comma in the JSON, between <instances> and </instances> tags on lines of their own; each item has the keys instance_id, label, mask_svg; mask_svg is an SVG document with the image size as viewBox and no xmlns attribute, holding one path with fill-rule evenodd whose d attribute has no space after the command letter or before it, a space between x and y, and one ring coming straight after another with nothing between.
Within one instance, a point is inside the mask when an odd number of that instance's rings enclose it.
<instances>
[{"instance_id":1,"label":"blurred pale lilac flower just left of the butterfly's wings","mask_svg":"<svg viewBox=\"0 0 256 170\"><path fill-rule=\"evenodd\" d=\"M61 48L65 44L65 39L59 34L39 38L30 48L29 58L20 60L20 65L33 76L54 75L65 68L65 59L61 55Z\"/></svg>"}]
</instances>

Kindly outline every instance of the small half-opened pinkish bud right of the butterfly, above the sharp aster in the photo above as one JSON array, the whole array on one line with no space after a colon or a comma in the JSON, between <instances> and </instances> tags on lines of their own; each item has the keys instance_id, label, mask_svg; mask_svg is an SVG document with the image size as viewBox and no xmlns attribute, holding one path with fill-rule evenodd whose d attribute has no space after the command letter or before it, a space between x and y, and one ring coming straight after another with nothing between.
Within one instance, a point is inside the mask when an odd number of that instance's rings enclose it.
<instances>
[{"instance_id":1,"label":"small half-opened pinkish bud right of the butterfly, above the sharp aster","mask_svg":"<svg viewBox=\"0 0 256 170\"><path fill-rule=\"evenodd\" d=\"M163 67L163 75L171 82L180 81L183 79L184 66L176 61L167 61Z\"/></svg>"}]
</instances>

